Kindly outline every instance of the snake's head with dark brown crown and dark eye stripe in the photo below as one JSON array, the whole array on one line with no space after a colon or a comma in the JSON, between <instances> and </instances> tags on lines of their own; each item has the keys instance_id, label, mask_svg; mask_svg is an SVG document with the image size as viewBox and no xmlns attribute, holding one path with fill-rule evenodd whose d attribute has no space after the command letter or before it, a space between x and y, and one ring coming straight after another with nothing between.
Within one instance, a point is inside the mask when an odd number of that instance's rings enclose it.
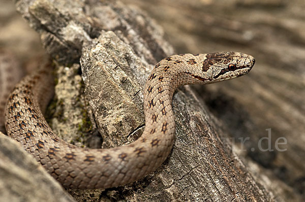
<instances>
[{"instance_id":1,"label":"snake's head with dark brown crown and dark eye stripe","mask_svg":"<svg viewBox=\"0 0 305 202\"><path fill-rule=\"evenodd\" d=\"M243 53L208 53L202 62L202 72L205 78L208 77L208 83L214 83L245 75L254 63L254 57Z\"/></svg>"}]
</instances>

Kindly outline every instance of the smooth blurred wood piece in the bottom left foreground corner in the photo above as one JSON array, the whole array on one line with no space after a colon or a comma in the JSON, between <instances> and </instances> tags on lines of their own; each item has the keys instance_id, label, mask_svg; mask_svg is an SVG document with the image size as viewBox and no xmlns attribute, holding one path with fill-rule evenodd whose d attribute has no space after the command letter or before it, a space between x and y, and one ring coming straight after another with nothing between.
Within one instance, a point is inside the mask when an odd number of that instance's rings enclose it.
<instances>
[{"instance_id":1,"label":"smooth blurred wood piece in the bottom left foreground corner","mask_svg":"<svg viewBox=\"0 0 305 202\"><path fill-rule=\"evenodd\" d=\"M0 131L1 201L75 201L19 144Z\"/></svg>"}]
</instances>

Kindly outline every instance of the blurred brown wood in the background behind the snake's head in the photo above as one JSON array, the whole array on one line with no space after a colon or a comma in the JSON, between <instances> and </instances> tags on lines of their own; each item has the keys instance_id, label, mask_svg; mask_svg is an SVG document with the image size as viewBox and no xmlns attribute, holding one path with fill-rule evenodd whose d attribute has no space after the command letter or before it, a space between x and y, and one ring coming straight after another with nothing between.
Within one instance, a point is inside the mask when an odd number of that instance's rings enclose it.
<instances>
[{"instance_id":1,"label":"blurred brown wood in the background behind the snake's head","mask_svg":"<svg viewBox=\"0 0 305 202\"><path fill-rule=\"evenodd\" d=\"M255 178L279 201L303 201L304 2L124 2L153 16L178 53L235 50L256 58L247 77L196 89Z\"/></svg>"}]
</instances>

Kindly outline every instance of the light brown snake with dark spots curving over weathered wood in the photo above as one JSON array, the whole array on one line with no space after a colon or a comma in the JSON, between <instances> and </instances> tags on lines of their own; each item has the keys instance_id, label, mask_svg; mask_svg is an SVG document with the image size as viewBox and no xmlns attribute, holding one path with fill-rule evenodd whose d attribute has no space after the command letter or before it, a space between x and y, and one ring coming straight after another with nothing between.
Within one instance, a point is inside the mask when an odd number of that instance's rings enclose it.
<instances>
[{"instance_id":1,"label":"light brown snake with dark spots curving over weathered wood","mask_svg":"<svg viewBox=\"0 0 305 202\"><path fill-rule=\"evenodd\" d=\"M238 52L177 54L154 67L143 90L145 128L128 145L89 149L69 144L52 131L43 111L53 90L51 69L25 76L12 90L5 126L12 139L32 154L64 187L111 188L155 171L168 157L175 137L174 91L181 85L209 84L246 75L253 56Z\"/></svg>"}]
</instances>

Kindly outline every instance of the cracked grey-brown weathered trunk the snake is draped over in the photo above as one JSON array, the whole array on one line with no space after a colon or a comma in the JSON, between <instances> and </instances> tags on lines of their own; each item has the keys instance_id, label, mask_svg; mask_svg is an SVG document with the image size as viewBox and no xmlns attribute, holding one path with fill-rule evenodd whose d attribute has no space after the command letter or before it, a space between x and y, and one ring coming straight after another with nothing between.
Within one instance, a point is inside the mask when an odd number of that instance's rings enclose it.
<instances>
[{"instance_id":1,"label":"cracked grey-brown weathered trunk the snake is draped over","mask_svg":"<svg viewBox=\"0 0 305 202\"><path fill-rule=\"evenodd\" d=\"M144 127L146 78L159 60L173 54L160 27L116 1L15 4L54 58L58 76L56 109L50 118L54 130L80 146L89 141L90 147L113 147L137 139ZM217 120L190 87L177 90L173 109L176 140L157 171L127 186L68 191L77 200L97 201L274 200L232 153L227 134L218 129Z\"/></svg>"}]
</instances>

